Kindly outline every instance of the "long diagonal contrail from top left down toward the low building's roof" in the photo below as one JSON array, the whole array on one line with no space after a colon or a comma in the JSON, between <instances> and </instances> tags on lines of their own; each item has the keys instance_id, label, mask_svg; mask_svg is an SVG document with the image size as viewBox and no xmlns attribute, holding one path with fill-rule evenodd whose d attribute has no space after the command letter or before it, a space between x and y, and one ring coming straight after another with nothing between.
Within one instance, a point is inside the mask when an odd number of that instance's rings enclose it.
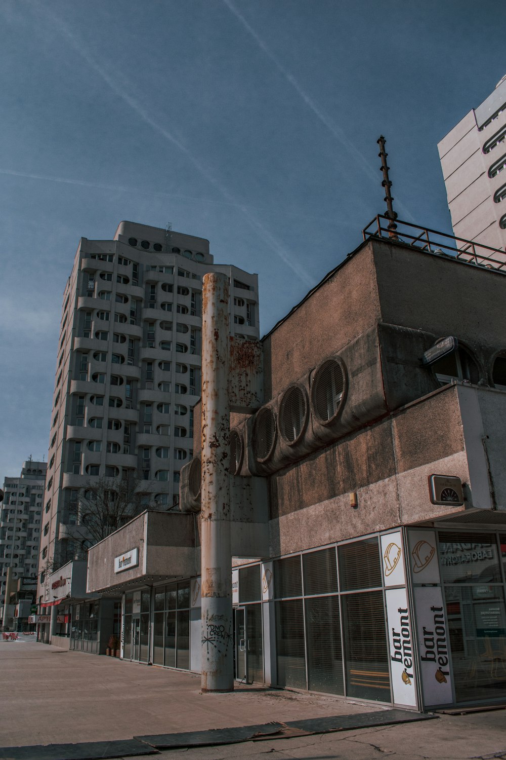
<instances>
[{"instance_id":1,"label":"long diagonal contrail from top left down toward the low building's roof","mask_svg":"<svg viewBox=\"0 0 506 760\"><path fill-rule=\"evenodd\" d=\"M133 109L138 116L140 116L141 119L143 119L146 124L148 124L154 131L158 132L159 135L162 135L165 140L170 142L174 145L174 147L177 147L178 150L181 151L182 154L184 154L185 157L187 157L188 160L190 160L191 163L193 163L193 166L197 169L197 171L207 179L207 181L213 185L219 192L222 193L223 197L227 199L227 201L231 204L237 205L237 201L235 201L235 198L231 193L228 191L228 189L225 187L225 185L222 185L222 182L220 182L210 171L209 169L206 169L206 166L203 166L203 163L200 162L191 152L188 150L184 144L181 143L177 138L174 137L174 135L171 134L168 129L165 127L162 127L158 122L156 122L154 119L152 119L152 116L149 115L149 112L143 108L143 106L140 105L140 103L135 100L134 97L132 97L124 87L120 87L117 81L115 81L115 78L111 76L111 74L108 74L105 69L99 65L96 58L93 57L93 55L90 55L90 53L86 50L86 48L83 46L82 43L80 43L80 40L77 39L77 36L72 33L72 31L68 28L67 24L64 24L64 21L61 21L61 18L55 16L55 14L52 13L52 11L49 10L48 6L46 5L44 8L44 11L46 14L49 15L49 17L52 18L53 24L55 24L56 27L59 28L61 33L67 37L67 39L70 41L71 45L74 47L74 49L83 57L83 59L86 61L88 65L90 65L91 68L93 68L94 71L96 71L97 74L102 78L103 81L105 81L106 84L108 84L108 87L111 88L111 90L117 95L121 100L124 100L125 103L127 103L128 106L130 106L131 109ZM239 205L240 211L244 215L245 219L248 223L250 223L250 226L253 227L253 229L256 230L256 232L262 236L264 241L272 247L274 252L281 258L281 261L284 262L291 270L294 272L294 274L299 277L300 280L302 280L303 283L306 285L312 286L314 284L314 277L310 275L308 271L306 271L305 268L301 264L299 264L297 261L294 260L293 255L291 255L289 252L284 249L284 246L281 245L278 240L275 239L274 236L272 236L271 233L269 233L268 230L262 225L262 223L257 220L253 214L250 213L250 211L247 210L246 207Z\"/></svg>"}]
</instances>

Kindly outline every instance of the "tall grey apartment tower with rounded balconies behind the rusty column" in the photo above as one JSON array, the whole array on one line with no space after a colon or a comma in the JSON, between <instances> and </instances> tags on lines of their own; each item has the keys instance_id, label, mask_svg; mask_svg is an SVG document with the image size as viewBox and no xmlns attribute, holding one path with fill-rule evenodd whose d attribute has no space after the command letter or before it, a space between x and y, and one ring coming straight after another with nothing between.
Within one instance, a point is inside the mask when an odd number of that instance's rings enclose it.
<instances>
[{"instance_id":1,"label":"tall grey apartment tower with rounded balconies behind the rusty column","mask_svg":"<svg viewBox=\"0 0 506 760\"><path fill-rule=\"evenodd\" d=\"M214 264L206 239L131 222L121 222L112 240L80 239L61 311L39 556L42 606L52 598L50 574L83 559L94 543L80 524L83 489L115 489L131 474L143 506L165 511L178 504L181 466L193 456L202 277L209 271L230 278L231 331L257 338L257 276Z\"/></svg>"}]
</instances>

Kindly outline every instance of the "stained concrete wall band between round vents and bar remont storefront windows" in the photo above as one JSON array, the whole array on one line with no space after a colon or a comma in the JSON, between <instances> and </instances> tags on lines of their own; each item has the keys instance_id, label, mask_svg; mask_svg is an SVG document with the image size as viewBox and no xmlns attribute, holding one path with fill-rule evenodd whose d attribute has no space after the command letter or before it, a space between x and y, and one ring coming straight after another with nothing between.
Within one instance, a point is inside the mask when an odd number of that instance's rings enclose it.
<instances>
[{"instance_id":1,"label":"stained concrete wall band between round vents and bar remont storefront windows","mask_svg":"<svg viewBox=\"0 0 506 760\"><path fill-rule=\"evenodd\" d=\"M468 480L457 386L269 477L270 551L276 556L447 514L430 503L428 477L435 473ZM350 492L357 492L357 509Z\"/></svg>"}]
</instances>

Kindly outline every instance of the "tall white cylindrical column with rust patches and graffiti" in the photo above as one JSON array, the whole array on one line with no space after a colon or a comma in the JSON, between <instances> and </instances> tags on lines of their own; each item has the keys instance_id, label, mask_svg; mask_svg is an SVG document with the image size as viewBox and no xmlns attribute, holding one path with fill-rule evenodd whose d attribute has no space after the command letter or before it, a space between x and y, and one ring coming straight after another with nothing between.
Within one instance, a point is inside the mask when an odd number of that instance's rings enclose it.
<instances>
[{"instance_id":1,"label":"tall white cylindrical column with rust patches and graffiti","mask_svg":"<svg viewBox=\"0 0 506 760\"><path fill-rule=\"evenodd\" d=\"M230 542L229 284L203 277L202 325L202 691L234 689Z\"/></svg>"}]
</instances>

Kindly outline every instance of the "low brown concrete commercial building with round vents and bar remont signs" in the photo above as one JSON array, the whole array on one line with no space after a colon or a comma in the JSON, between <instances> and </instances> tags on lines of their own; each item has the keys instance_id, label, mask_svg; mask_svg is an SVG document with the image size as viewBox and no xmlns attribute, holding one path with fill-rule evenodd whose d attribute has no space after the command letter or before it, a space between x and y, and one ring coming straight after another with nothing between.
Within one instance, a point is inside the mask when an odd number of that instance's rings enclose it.
<instances>
[{"instance_id":1,"label":"low brown concrete commercial building with round vents and bar remont signs","mask_svg":"<svg viewBox=\"0 0 506 760\"><path fill-rule=\"evenodd\" d=\"M504 700L504 296L502 271L372 236L262 339L262 397L231 413L238 680L419 710ZM215 645L201 483L197 456L186 513L90 549L88 591L123 594L127 659L199 670Z\"/></svg>"}]
</instances>

